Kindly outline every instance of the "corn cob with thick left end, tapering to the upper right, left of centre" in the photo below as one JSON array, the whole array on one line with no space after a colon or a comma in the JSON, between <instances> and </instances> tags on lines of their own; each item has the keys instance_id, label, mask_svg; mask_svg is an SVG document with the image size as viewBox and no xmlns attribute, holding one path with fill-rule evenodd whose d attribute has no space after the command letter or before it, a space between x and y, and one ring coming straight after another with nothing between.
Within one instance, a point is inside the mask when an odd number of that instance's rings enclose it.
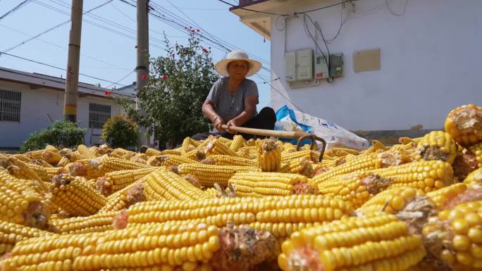
<instances>
[{"instance_id":1,"label":"corn cob with thick left end, tapering to the upper right, left of centre","mask_svg":"<svg viewBox=\"0 0 482 271\"><path fill-rule=\"evenodd\" d=\"M101 194L109 195L127 187L129 184L141 179L159 168L141 168L139 170L118 170L108 172L104 177L97 178L96 188Z\"/></svg>"}]
</instances>

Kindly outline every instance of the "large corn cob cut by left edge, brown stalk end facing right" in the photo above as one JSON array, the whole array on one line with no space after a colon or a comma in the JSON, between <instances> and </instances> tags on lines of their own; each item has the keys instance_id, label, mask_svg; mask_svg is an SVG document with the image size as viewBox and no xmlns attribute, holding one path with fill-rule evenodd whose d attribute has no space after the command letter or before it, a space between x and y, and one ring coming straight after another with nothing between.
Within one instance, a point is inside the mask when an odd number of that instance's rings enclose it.
<instances>
[{"instance_id":1,"label":"large corn cob cut by left edge, brown stalk end facing right","mask_svg":"<svg viewBox=\"0 0 482 271\"><path fill-rule=\"evenodd\" d=\"M49 214L42 196L30 182L0 168L0 220L44 229Z\"/></svg>"}]
</instances>

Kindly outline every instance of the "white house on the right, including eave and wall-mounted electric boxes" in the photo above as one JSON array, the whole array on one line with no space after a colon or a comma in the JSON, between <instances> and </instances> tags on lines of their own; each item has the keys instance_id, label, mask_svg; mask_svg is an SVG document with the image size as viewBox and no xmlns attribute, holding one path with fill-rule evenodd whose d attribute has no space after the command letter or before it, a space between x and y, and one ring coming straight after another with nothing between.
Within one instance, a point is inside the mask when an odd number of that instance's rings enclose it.
<instances>
[{"instance_id":1,"label":"white house on the right, including eave and wall-mounted electric boxes","mask_svg":"<svg viewBox=\"0 0 482 271\"><path fill-rule=\"evenodd\" d=\"M482 103L482 1L244 0L230 11L271 39L275 110L349 130L433 130Z\"/></svg>"}]
</instances>

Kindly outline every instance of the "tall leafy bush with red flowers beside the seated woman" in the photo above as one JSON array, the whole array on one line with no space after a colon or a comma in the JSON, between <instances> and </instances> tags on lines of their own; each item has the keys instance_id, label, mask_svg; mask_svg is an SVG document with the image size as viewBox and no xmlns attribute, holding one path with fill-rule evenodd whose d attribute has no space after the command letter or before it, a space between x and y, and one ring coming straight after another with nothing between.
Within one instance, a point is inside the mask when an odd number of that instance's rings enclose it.
<instances>
[{"instance_id":1,"label":"tall leafy bush with red flowers beside the seated woman","mask_svg":"<svg viewBox=\"0 0 482 271\"><path fill-rule=\"evenodd\" d=\"M135 110L132 101L117 98L137 124L147 127L148 134L171 146L192 134L209 131L209 121L201 109L218 75L211 51L200 42L194 32L187 45L176 42L171 46L165 37L167 56L150 59L149 82L137 93L144 115Z\"/></svg>"}]
</instances>

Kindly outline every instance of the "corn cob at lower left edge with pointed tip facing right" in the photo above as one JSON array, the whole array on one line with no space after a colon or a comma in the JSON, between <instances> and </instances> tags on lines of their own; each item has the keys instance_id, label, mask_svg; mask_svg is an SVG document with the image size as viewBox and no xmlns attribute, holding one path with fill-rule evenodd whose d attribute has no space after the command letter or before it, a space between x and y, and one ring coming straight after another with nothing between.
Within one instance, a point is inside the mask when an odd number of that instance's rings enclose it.
<instances>
[{"instance_id":1,"label":"corn cob at lower left edge with pointed tip facing right","mask_svg":"<svg viewBox=\"0 0 482 271\"><path fill-rule=\"evenodd\" d=\"M50 235L53 234L41 229L0 220L0 256L4 253L10 252L13 246L19 241L33 237L47 237Z\"/></svg>"}]
</instances>

